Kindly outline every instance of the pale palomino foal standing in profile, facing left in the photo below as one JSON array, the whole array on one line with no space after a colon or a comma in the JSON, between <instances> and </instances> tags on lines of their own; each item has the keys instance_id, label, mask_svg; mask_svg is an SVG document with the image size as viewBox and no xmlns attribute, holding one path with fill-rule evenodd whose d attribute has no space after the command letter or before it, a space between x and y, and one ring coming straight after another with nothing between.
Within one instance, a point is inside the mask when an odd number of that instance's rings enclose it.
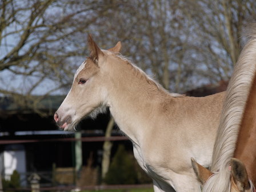
<instances>
[{"instance_id":1,"label":"pale palomino foal standing in profile, facing left","mask_svg":"<svg viewBox=\"0 0 256 192\"><path fill-rule=\"evenodd\" d=\"M120 42L101 50L88 39L91 54L54 115L58 126L73 130L85 116L109 107L139 165L153 178L154 191L197 190L190 157L210 165L225 93L203 98L168 93L118 53Z\"/></svg>"}]
</instances>

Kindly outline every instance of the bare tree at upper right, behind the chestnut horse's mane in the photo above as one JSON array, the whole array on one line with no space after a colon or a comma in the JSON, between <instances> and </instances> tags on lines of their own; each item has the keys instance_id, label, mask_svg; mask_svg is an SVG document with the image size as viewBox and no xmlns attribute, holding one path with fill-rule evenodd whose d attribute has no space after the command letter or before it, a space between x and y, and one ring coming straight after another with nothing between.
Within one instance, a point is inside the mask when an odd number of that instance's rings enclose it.
<instances>
[{"instance_id":1,"label":"bare tree at upper right, behind the chestnut horse's mane","mask_svg":"<svg viewBox=\"0 0 256 192\"><path fill-rule=\"evenodd\" d=\"M255 13L255 2L184 1L180 10L193 25L195 54L201 59L198 74L210 82L229 79L241 50L243 26Z\"/></svg>"}]
</instances>

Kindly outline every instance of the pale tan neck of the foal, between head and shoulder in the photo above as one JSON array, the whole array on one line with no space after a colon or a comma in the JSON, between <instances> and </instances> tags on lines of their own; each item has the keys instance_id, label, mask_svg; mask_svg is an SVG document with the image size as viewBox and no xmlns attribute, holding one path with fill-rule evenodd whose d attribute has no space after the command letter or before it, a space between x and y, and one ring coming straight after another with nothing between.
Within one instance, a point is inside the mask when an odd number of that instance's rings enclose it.
<instances>
[{"instance_id":1,"label":"pale tan neck of the foal, between head and shoulder","mask_svg":"<svg viewBox=\"0 0 256 192\"><path fill-rule=\"evenodd\" d=\"M119 63L109 73L115 75L108 87L110 112L123 133L139 145L159 101L170 95L130 63Z\"/></svg>"}]
</instances>

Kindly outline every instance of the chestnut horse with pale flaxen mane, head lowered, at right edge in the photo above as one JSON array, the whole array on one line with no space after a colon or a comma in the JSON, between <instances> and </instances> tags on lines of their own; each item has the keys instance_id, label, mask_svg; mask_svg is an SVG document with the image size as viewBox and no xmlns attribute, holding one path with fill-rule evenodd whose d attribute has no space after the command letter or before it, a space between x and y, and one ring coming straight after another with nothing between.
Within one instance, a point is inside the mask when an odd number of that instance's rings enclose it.
<instances>
[{"instance_id":1,"label":"chestnut horse with pale flaxen mane, head lowered, at right edge","mask_svg":"<svg viewBox=\"0 0 256 192\"><path fill-rule=\"evenodd\" d=\"M251 24L248 36L249 40L238 58L227 87L211 171L192 159L194 171L203 184L203 191L255 190L256 23Z\"/></svg>"}]
</instances>

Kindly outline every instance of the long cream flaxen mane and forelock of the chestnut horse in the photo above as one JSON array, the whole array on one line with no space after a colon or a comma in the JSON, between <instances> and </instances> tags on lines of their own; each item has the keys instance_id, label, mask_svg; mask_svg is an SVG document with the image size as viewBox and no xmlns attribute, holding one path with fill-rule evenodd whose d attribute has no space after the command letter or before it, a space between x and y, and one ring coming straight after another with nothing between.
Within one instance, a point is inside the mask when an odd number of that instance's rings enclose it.
<instances>
[{"instance_id":1,"label":"long cream flaxen mane and forelock of the chestnut horse","mask_svg":"<svg viewBox=\"0 0 256 192\"><path fill-rule=\"evenodd\" d=\"M243 110L256 72L256 23L251 23L247 38L231 75L223 103L211 166L211 171L215 174L205 183L203 191L229 191L230 159L234 155Z\"/></svg>"}]
</instances>

